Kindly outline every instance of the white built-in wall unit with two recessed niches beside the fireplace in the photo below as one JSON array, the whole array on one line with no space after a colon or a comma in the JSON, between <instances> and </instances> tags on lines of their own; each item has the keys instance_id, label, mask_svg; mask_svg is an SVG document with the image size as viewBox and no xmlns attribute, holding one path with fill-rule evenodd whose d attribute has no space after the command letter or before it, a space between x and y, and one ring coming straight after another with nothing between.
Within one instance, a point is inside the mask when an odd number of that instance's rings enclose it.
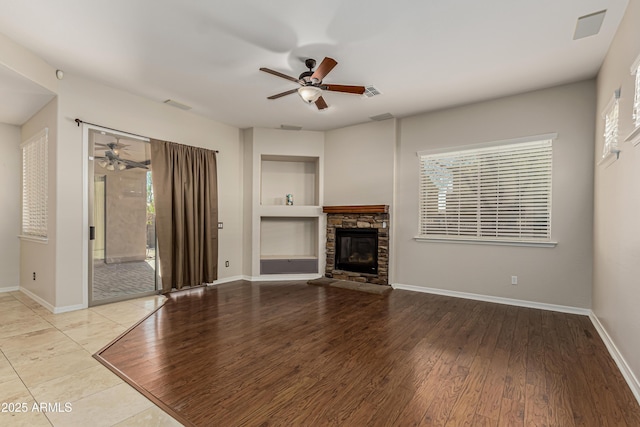
<instances>
[{"instance_id":1,"label":"white built-in wall unit with two recessed niches beside the fireplace","mask_svg":"<svg viewBox=\"0 0 640 427\"><path fill-rule=\"evenodd\" d=\"M251 128L243 138L251 204L244 218L251 224L248 274L263 280L317 277L325 263L324 133Z\"/></svg>"}]
</instances>

